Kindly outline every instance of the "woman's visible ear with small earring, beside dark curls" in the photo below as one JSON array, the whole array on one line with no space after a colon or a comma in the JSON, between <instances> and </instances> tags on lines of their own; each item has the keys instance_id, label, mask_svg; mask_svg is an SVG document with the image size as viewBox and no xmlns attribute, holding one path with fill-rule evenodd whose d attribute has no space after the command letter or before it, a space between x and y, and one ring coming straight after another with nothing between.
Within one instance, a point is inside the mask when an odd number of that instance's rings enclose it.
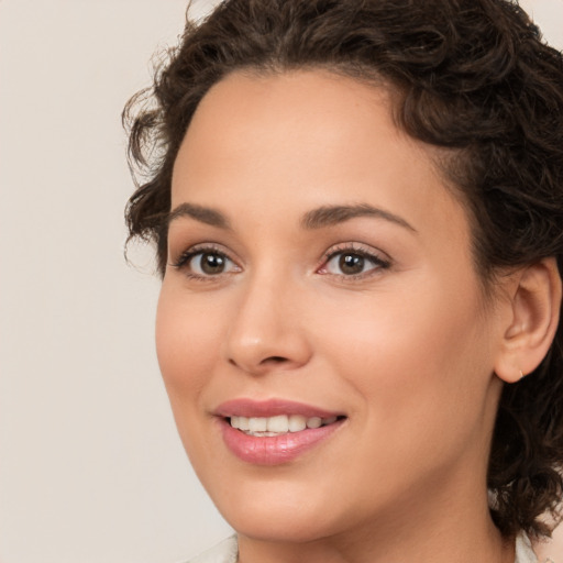
<instances>
[{"instance_id":1,"label":"woman's visible ear with small earring, beside dark curls","mask_svg":"<svg viewBox=\"0 0 563 563\"><path fill-rule=\"evenodd\" d=\"M495 362L495 373L506 383L533 372L545 357L558 330L562 291L555 258L541 260L510 277L511 314Z\"/></svg>"}]
</instances>

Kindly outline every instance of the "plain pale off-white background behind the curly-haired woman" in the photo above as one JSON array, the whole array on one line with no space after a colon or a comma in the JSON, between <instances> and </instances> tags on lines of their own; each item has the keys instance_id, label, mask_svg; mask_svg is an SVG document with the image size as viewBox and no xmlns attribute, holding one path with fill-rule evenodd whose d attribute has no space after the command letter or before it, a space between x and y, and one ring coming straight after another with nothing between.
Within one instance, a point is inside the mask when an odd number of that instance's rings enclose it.
<instances>
[{"instance_id":1,"label":"plain pale off-white background behind the curly-haired woman","mask_svg":"<svg viewBox=\"0 0 563 563\"><path fill-rule=\"evenodd\" d=\"M122 256L120 112L185 4L0 0L1 563L175 562L229 533L159 379L150 253ZM563 0L522 4L563 47Z\"/></svg>"}]
</instances>

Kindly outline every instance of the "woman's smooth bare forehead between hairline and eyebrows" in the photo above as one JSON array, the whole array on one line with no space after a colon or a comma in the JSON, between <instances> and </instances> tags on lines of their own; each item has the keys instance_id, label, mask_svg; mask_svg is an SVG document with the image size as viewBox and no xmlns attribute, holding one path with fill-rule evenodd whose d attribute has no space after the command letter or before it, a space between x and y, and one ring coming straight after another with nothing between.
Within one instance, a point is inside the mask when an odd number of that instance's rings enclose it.
<instances>
[{"instance_id":1,"label":"woman's smooth bare forehead between hairline and eyebrows","mask_svg":"<svg viewBox=\"0 0 563 563\"><path fill-rule=\"evenodd\" d=\"M367 202L417 230L426 223L429 235L465 238L465 209L432 148L395 125L393 96L323 70L233 73L194 115L175 164L173 208L190 201L250 216Z\"/></svg>"}]
</instances>

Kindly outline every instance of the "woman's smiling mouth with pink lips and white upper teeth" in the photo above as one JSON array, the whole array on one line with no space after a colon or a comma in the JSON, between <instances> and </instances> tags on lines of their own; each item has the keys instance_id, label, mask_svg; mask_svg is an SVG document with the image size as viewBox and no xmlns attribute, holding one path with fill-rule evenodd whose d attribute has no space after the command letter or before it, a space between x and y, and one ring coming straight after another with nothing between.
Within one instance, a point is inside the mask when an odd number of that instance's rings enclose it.
<instances>
[{"instance_id":1,"label":"woman's smiling mouth with pink lips and white upper teeth","mask_svg":"<svg viewBox=\"0 0 563 563\"><path fill-rule=\"evenodd\" d=\"M345 416L286 400L235 399L217 409L227 448L243 462L256 465L289 463L320 445Z\"/></svg>"}]
</instances>

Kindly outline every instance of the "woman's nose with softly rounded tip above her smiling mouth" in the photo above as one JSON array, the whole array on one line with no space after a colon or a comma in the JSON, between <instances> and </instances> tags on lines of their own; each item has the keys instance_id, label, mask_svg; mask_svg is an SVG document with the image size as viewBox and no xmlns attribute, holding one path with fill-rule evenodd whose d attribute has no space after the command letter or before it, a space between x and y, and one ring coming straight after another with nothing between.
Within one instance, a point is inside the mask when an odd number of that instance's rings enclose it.
<instances>
[{"instance_id":1,"label":"woman's nose with softly rounded tip above her smiling mouth","mask_svg":"<svg viewBox=\"0 0 563 563\"><path fill-rule=\"evenodd\" d=\"M260 277L239 289L224 340L228 362L251 375L307 364L311 346L299 291Z\"/></svg>"}]
</instances>

